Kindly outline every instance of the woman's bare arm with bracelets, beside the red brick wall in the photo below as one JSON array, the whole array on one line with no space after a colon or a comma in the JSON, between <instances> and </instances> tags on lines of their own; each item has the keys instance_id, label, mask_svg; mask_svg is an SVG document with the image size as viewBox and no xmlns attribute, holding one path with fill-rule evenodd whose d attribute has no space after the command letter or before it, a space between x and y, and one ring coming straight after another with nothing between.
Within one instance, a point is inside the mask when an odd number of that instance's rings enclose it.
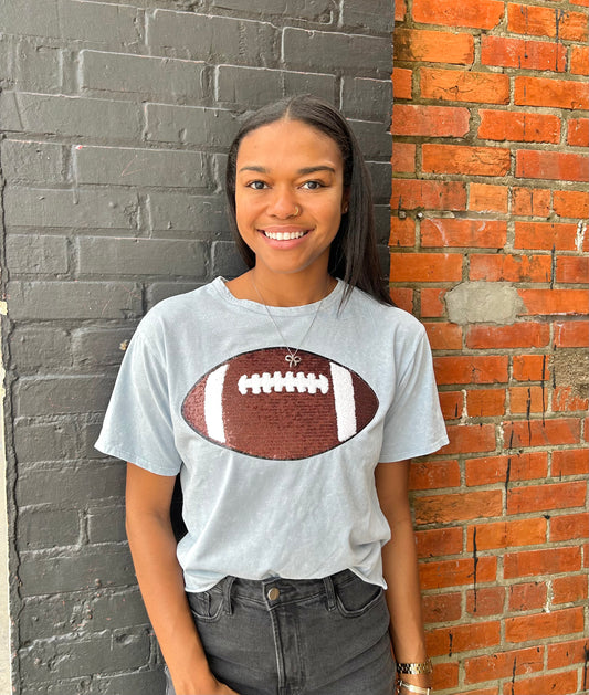
<instances>
[{"instance_id":1,"label":"woman's bare arm with bracelets, beside the red brick wall","mask_svg":"<svg viewBox=\"0 0 589 695\"><path fill-rule=\"evenodd\" d=\"M378 501L391 529L382 548L382 571L387 582L390 635L399 663L422 663L428 653L418 560L411 509L409 507L409 461L379 463L375 471ZM403 675L406 683L431 686L431 675Z\"/></svg>"}]
</instances>

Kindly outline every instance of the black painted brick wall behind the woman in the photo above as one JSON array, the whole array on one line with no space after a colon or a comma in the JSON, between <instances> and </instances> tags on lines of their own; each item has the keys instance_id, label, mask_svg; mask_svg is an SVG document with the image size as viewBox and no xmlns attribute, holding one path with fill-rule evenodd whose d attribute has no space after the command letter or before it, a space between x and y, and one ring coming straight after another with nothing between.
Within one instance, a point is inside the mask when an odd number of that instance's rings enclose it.
<instances>
[{"instance_id":1,"label":"black painted brick wall behind the woman","mask_svg":"<svg viewBox=\"0 0 589 695\"><path fill-rule=\"evenodd\" d=\"M93 450L125 345L161 298L241 270L223 212L239 114L333 99L374 177L387 263L390 0L0 0L14 687L156 695L124 533Z\"/></svg>"}]
</instances>

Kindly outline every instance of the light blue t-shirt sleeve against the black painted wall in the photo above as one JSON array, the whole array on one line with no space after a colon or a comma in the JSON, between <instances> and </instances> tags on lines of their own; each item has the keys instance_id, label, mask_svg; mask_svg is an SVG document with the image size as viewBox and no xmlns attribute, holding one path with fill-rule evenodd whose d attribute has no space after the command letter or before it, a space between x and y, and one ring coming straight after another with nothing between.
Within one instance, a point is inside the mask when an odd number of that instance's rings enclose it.
<instances>
[{"instance_id":1,"label":"light blue t-shirt sleeve against the black painted wall","mask_svg":"<svg viewBox=\"0 0 589 695\"><path fill-rule=\"evenodd\" d=\"M182 462L175 445L166 361L140 329L120 365L95 447L151 473L176 475Z\"/></svg>"}]
</instances>

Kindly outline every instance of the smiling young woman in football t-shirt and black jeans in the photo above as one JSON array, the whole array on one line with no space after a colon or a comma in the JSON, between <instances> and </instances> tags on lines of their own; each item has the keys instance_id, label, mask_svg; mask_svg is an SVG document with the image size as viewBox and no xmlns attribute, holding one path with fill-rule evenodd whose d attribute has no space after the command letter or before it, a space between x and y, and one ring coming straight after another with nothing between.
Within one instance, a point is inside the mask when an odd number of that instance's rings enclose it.
<instances>
[{"instance_id":1,"label":"smiling young woman in football t-shirt and black jeans","mask_svg":"<svg viewBox=\"0 0 589 695\"><path fill-rule=\"evenodd\" d=\"M129 462L167 693L428 693L408 466L448 440L424 330L380 281L358 145L320 99L270 105L227 194L250 270L147 314L97 442Z\"/></svg>"}]
</instances>

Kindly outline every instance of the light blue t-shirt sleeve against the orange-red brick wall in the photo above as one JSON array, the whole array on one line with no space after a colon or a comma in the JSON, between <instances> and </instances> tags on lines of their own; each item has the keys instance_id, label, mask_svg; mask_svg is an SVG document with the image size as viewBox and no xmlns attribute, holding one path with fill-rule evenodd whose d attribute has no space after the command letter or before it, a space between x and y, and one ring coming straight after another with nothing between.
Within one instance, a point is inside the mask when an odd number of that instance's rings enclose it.
<instances>
[{"instance_id":1,"label":"light blue t-shirt sleeve against the orange-red brick wall","mask_svg":"<svg viewBox=\"0 0 589 695\"><path fill-rule=\"evenodd\" d=\"M385 418L381 462L424 456L448 444L430 345L420 325L413 349L399 365L392 403Z\"/></svg>"}]
</instances>

